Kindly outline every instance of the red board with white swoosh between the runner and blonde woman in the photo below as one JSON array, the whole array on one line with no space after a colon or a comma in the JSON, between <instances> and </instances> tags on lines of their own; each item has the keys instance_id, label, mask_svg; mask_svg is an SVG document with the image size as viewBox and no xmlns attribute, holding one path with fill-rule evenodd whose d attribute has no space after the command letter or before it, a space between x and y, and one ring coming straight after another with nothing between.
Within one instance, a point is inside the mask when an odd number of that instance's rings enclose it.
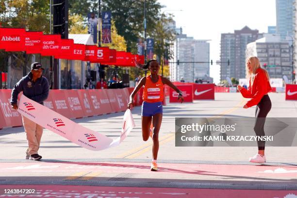
<instances>
[{"instance_id":1,"label":"red board with white swoosh between the runner and blonde woman","mask_svg":"<svg viewBox=\"0 0 297 198\"><path fill-rule=\"evenodd\" d=\"M214 84L193 84L194 99L214 99Z\"/></svg>"}]
</instances>

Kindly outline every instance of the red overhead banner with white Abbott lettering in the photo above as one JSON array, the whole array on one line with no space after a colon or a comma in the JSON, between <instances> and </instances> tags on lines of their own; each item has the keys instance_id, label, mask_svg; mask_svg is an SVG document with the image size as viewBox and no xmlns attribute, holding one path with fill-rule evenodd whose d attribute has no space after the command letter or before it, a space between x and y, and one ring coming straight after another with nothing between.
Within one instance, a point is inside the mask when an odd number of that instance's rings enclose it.
<instances>
[{"instance_id":1,"label":"red overhead banner with white Abbott lettering","mask_svg":"<svg viewBox=\"0 0 297 198\"><path fill-rule=\"evenodd\" d=\"M0 49L25 51L25 29L0 28Z\"/></svg>"}]
</instances>

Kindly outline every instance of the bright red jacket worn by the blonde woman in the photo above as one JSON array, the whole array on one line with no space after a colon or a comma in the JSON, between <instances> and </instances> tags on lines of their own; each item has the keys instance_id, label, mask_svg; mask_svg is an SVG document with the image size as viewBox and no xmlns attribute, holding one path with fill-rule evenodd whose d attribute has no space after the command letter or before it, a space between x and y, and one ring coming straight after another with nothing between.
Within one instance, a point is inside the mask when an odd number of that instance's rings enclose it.
<instances>
[{"instance_id":1,"label":"bright red jacket worn by the blonde woman","mask_svg":"<svg viewBox=\"0 0 297 198\"><path fill-rule=\"evenodd\" d=\"M259 68L256 71L253 85L250 85L248 89L242 88L240 93L244 98L251 98L247 101L247 107L257 105L262 97L271 90L269 80L267 79L263 69Z\"/></svg>"}]
</instances>

